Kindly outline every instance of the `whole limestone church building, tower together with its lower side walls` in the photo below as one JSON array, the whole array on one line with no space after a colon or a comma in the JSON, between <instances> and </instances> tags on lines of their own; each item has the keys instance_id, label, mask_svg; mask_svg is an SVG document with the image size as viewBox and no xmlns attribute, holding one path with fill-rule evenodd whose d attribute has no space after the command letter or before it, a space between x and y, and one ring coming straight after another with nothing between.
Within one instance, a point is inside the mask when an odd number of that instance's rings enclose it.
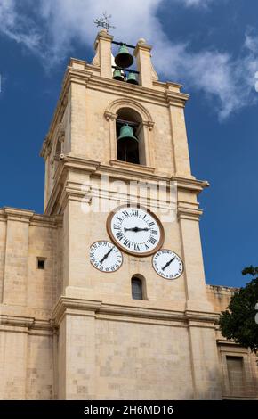
<instances>
[{"instance_id":1,"label":"whole limestone church building, tower together with its lower side walls","mask_svg":"<svg viewBox=\"0 0 258 419\"><path fill-rule=\"evenodd\" d=\"M233 291L205 283L189 96L144 39L138 85L105 29L94 46L44 140L44 215L0 209L0 398L255 397L254 357L217 330Z\"/></svg>"}]
</instances>

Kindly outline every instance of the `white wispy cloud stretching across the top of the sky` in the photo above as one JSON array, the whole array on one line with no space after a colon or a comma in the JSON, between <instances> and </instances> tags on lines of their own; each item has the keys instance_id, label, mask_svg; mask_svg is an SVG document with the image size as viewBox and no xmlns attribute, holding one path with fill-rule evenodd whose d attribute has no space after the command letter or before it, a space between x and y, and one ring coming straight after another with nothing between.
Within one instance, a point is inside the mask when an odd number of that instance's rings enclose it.
<instances>
[{"instance_id":1,"label":"white wispy cloud stretching across the top of the sky","mask_svg":"<svg viewBox=\"0 0 258 419\"><path fill-rule=\"evenodd\" d=\"M183 81L189 91L196 88L205 93L206 98L215 99L220 119L250 104L254 74L258 70L258 37L248 31L237 59L230 53L214 50L193 53L187 43L173 43L165 35L157 18L158 7L164 1L23 0L21 7L18 0L0 0L0 32L25 45L51 67L72 53L74 42L93 45L97 32L93 21L107 10L117 26L112 34L118 40L123 38L128 43L135 43L138 38L145 37L154 45L153 61L157 72L173 81ZM181 3L197 7L212 1L181 0ZM29 16L26 10L29 10ZM211 103L214 107L214 100Z\"/></svg>"}]
</instances>

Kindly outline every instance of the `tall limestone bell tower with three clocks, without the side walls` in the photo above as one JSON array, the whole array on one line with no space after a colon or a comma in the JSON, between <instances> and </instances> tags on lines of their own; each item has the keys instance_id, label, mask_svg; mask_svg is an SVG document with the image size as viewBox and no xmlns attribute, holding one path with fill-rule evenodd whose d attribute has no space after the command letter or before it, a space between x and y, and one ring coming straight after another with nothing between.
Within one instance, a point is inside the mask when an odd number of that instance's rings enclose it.
<instances>
[{"instance_id":1,"label":"tall limestone bell tower with three clocks, without the side walls","mask_svg":"<svg viewBox=\"0 0 258 419\"><path fill-rule=\"evenodd\" d=\"M101 29L94 48L92 63L70 59L42 149L44 212L62 220L56 393L221 398L189 95L158 80L143 38Z\"/></svg>"}]
</instances>

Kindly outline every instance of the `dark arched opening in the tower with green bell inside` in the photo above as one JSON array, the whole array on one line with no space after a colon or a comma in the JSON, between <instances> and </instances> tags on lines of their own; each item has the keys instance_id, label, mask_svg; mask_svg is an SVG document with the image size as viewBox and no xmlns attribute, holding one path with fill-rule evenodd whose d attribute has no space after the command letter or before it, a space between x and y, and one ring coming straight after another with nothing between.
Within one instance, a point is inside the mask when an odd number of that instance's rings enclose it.
<instances>
[{"instance_id":1,"label":"dark arched opening in the tower with green bell inside","mask_svg":"<svg viewBox=\"0 0 258 419\"><path fill-rule=\"evenodd\" d=\"M117 160L133 164L145 163L141 115L130 108L117 111Z\"/></svg>"}]
</instances>

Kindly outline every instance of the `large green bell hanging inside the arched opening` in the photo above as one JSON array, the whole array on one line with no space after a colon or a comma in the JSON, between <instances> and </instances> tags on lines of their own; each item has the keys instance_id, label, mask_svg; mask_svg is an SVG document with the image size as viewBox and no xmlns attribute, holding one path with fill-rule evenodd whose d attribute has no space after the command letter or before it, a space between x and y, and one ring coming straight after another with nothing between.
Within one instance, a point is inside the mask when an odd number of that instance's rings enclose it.
<instances>
[{"instance_id":1,"label":"large green bell hanging inside the arched opening","mask_svg":"<svg viewBox=\"0 0 258 419\"><path fill-rule=\"evenodd\" d=\"M133 161L137 160L138 138L133 135L133 128L123 125L120 129L120 136L117 138L117 157L118 160ZM135 161L138 162L138 161Z\"/></svg>"}]
</instances>

